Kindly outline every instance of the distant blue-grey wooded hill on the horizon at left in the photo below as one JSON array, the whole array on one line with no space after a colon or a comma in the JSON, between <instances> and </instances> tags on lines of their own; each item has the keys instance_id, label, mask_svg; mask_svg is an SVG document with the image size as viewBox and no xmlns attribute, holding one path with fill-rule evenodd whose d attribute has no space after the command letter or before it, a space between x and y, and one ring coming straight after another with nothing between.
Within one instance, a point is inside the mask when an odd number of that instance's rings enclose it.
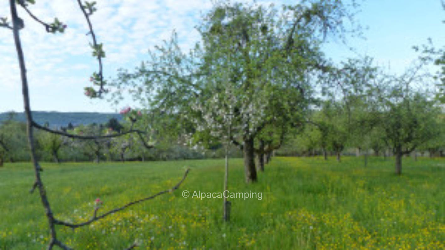
<instances>
[{"instance_id":1,"label":"distant blue-grey wooded hill on the horizon at left","mask_svg":"<svg viewBox=\"0 0 445 250\"><path fill-rule=\"evenodd\" d=\"M9 113L0 113L0 122L8 119ZM122 115L116 113L96 113L96 112L56 112L56 111L32 111L33 119L44 125L49 123L49 127L67 127L69 123L73 126L87 125L91 123L106 123L111 118L122 120ZM26 122L23 112L15 113L14 120Z\"/></svg>"}]
</instances>

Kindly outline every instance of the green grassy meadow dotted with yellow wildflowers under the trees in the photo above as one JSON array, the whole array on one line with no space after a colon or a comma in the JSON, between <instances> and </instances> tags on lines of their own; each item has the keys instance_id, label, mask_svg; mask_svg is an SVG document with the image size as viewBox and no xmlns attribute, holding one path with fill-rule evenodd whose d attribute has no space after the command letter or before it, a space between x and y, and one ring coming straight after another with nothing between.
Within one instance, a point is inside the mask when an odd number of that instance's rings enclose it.
<instances>
[{"instance_id":1,"label":"green grassy meadow dotted with yellow wildflowers under the trees","mask_svg":"<svg viewBox=\"0 0 445 250\"><path fill-rule=\"evenodd\" d=\"M90 226L58 226L75 249L445 249L445 159L393 160L274 158L259 182L243 183L241 159L231 160L229 190L261 192L229 198L231 221L222 222L223 200L191 198L194 190L221 192L223 160L146 163L43 163L43 178L59 218L81 222L135 198L179 190L133 206ZM44 249L47 222L29 163L0 168L0 249ZM189 198L182 191L190 191Z\"/></svg>"}]
</instances>

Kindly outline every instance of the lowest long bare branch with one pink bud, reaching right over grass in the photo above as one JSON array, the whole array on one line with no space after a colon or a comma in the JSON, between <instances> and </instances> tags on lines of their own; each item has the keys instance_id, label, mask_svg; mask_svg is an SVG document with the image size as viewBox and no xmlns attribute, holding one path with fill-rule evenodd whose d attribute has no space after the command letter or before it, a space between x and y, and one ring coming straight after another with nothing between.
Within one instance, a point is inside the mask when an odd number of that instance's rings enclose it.
<instances>
[{"instance_id":1,"label":"lowest long bare branch with one pink bud, reaching right over grass","mask_svg":"<svg viewBox=\"0 0 445 250\"><path fill-rule=\"evenodd\" d=\"M157 196L159 196L159 195L161 195L161 194L166 194L166 193L172 192L173 190L178 189L178 187L179 187L179 186L182 184L182 182L186 179L187 174L189 173L189 171L190 171L190 168L187 168L187 170L186 170L186 172L184 173L184 176L182 177L182 179L181 179L181 180L180 180L174 187L172 187L172 188L170 188L170 189L163 190L163 191L161 191L161 192L159 192L159 193L157 193L157 194L153 194L153 195L151 195L151 196L149 196L149 197L146 197L146 198L142 198L142 199L135 200L135 201L133 201L133 202L129 202L129 203L125 204L124 206L121 206L121 207L119 207L119 208L115 208L115 209L113 209L113 210L109 210L109 211L106 212L105 214L101 214L101 215L99 215L99 216L93 216L93 218L91 218L91 219L89 219L88 221L85 221L85 222L81 222L81 223L78 223L78 224L73 224L73 223L69 223L69 222L65 222L65 221L60 221L60 220L57 220L56 218L54 218L54 224L57 224L57 225L63 225L63 226L68 226L68 227L71 227L71 228L77 228L77 227L81 227L81 226L89 225L89 224L91 224L92 222L95 222L95 221L97 221L97 220L99 220L99 219L101 219L101 218L104 218L104 217L106 217L106 216L108 216L108 215L110 215L110 214L114 214L114 213L116 213L116 212L118 212L118 211L120 211L120 210L124 210L125 208L127 208L127 207L129 207L129 206L133 206L133 205L138 204L138 203L140 203L140 202L143 202L143 201L146 201L146 200L153 199L153 198L155 198L155 197L157 197ZM94 213L94 215L96 215L96 213Z\"/></svg>"}]
</instances>

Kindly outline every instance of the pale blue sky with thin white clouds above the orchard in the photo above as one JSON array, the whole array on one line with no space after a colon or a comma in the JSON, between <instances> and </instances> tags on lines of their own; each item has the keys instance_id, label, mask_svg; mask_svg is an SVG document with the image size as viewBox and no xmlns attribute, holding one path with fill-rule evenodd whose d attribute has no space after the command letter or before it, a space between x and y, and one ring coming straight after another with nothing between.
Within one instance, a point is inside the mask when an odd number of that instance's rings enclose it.
<instances>
[{"instance_id":1,"label":"pale blue sky with thin white clouds above the orchard","mask_svg":"<svg viewBox=\"0 0 445 250\"><path fill-rule=\"evenodd\" d=\"M275 6L291 2L295 1L273 1ZM336 62L370 56L376 64L401 74L418 56L412 49L414 45L426 44L428 38L437 47L445 45L442 23L445 11L440 0L359 0L359 3L360 12L355 18L364 27L365 39L349 38L346 45L341 41L324 45L326 56ZM99 43L104 44L105 79L113 79L118 68L132 70L147 60L148 50L168 40L173 30L184 51L192 48L199 40L194 27L211 7L210 0L97 0L97 12L91 20ZM49 23L58 17L68 25L63 34L49 34L19 8L25 24L20 36L32 110L116 112L135 105L125 100L113 106L107 98L93 100L84 95L83 88L89 86L89 77L98 66L91 56L91 36L86 35L88 27L77 1L36 0L29 9ZM0 17L11 20L8 10L8 1L1 1ZM0 112L6 111L23 111L23 99L12 32L0 28Z\"/></svg>"}]
</instances>

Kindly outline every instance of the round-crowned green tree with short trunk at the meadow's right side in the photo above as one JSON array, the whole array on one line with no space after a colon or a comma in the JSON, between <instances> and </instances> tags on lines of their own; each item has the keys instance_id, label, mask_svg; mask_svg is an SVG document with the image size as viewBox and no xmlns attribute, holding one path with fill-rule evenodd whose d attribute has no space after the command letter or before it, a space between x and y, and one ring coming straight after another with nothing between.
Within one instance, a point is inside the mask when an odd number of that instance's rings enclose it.
<instances>
[{"instance_id":1,"label":"round-crowned green tree with short trunk at the meadow's right side","mask_svg":"<svg viewBox=\"0 0 445 250\"><path fill-rule=\"evenodd\" d=\"M439 131L436 101L428 92L414 89L411 85L425 80L418 71L423 62L398 77L389 77L388 87L380 92L381 118L384 140L395 155L395 172L402 173L402 156L409 154L422 143L432 139Z\"/></svg>"}]
</instances>

